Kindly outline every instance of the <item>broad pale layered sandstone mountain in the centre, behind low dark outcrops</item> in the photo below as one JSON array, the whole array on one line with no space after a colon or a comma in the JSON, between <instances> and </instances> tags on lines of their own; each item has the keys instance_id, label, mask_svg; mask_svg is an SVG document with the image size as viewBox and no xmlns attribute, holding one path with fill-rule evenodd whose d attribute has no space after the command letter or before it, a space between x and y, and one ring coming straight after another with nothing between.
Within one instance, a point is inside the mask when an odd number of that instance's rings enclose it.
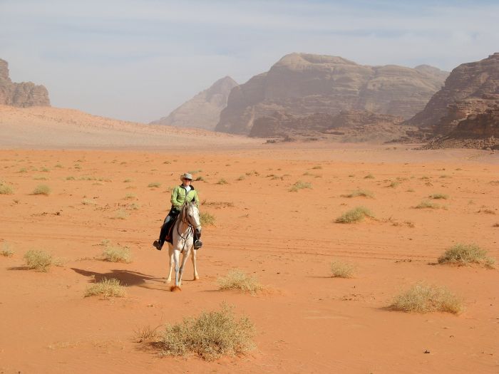
<instances>
[{"instance_id":1,"label":"broad pale layered sandstone mountain in the centre, behind low dark outcrops","mask_svg":"<svg viewBox=\"0 0 499 374\"><path fill-rule=\"evenodd\" d=\"M276 111L306 117L357 110L408 119L446 76L431 66L363 66L341 57L292 53L233 88L215 130L247 135L258 118Z\"/></svg>"}]
</instances>

